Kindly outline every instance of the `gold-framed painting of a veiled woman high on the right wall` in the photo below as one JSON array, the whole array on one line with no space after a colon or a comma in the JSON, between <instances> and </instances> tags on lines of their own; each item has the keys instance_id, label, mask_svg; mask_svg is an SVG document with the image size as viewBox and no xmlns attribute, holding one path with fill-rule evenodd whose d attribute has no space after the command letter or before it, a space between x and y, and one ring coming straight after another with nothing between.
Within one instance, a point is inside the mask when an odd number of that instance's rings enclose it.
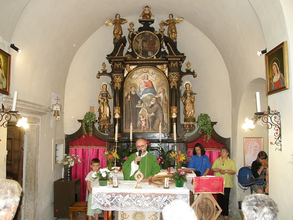
<instances>
[{"instance_id":1,"label":"gold-framed painting of a veiled woman high on the right wall","mask_svg":"<svg viewBox=\"0 0 293 220\"><path fill-rule=\"evenodd\" d=\"M289 88L287 41L266 53L267 95Z\"/></svg>"}]
</instances>

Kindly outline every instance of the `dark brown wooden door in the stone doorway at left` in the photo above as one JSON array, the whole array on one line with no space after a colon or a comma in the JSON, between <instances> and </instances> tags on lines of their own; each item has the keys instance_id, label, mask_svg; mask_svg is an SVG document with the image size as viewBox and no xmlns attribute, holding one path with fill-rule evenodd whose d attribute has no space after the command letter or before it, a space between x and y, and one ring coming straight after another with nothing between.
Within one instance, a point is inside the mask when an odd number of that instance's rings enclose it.
<instances>
[{"instance_id":1,"label":"dark brown wooden door in the stone doorway at left","mask_svg":"<svg viewBox=\"0 0 293 220\"><path fill-rule=\"evenodd\" d=\"M8 123L7 126L6 178L18 181L22 187L24 129L15 125L16 123ZM21 220L21 201L15 220Z\"/></svg>"}]
</instances>

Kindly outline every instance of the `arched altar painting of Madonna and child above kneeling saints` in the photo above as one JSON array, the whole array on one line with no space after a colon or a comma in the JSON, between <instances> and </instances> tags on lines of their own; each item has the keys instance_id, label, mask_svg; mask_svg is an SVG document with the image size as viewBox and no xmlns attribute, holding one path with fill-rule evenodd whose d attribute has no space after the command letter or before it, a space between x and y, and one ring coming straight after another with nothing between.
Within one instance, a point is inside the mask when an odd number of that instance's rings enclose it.
<instances>
[{"instance_id":1,"label":"arched altar painting of Madonna and child above kneeling saints","mask_svg":"<svg viewBox=\"0 0 293 220\"><path fill-rule=\"evenodd\" d=\"M168 132L169 104L166 75L154 67L139 67L126 76L124 132Z\"/></svg>"}]
</instances>

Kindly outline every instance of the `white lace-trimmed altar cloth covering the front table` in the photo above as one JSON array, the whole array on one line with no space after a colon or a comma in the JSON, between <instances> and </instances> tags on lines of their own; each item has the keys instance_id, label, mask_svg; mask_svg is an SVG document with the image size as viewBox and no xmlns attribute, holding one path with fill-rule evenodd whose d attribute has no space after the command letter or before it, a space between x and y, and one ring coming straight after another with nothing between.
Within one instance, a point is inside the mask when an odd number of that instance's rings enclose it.
<instances>
[{"instance_id":1,"label":"white lace-trimmed altar cloth covering the front table","mask_svg":"<svg viewBox=\"0 0 293 220\"><path fill-rule=\"evenodd\" d=\"M141 183L143 189L135 189L137 181L119 180L118 188L113 185L92 188L92 209L106 211L141 211L162 212L163 208L174 199L182 199L189 204L189 189L184 186L169 189Z\"/></svg>"}]
</instances>

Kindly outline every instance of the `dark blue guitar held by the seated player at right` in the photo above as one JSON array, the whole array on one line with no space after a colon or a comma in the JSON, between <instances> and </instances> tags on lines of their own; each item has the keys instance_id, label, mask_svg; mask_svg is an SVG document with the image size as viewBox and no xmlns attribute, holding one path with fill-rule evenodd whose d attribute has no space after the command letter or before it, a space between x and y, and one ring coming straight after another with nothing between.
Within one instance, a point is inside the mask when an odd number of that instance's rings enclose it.
<instances>
[{"instance_id":1,"label":"dark blue guitar held by the seated player at right","mask_svg":"<svg viewBox=\"0 0 293 220\"><path fill-rule=\"evenodd\" d=\"M249 167L242 167L238 172L238 182L242 186L251 186L252 184L263 184L265 175L261 172L261 175L255 179L252 175L251 168Z\"/></svg>"}]
</instances>

